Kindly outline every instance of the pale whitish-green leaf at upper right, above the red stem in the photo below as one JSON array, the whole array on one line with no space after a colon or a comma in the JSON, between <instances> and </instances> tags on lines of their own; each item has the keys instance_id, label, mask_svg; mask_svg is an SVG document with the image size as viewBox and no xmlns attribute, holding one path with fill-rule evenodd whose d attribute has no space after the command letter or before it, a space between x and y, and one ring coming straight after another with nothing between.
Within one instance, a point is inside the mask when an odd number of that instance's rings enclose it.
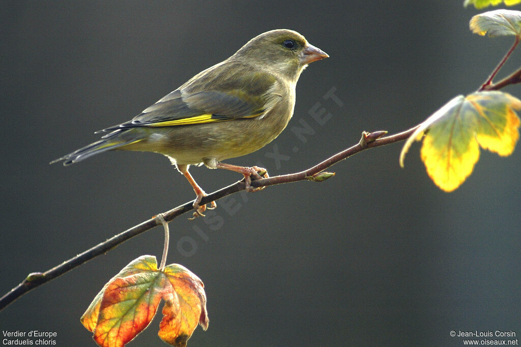
<instances>
[{"instance_id":1,"label":"pale whitish-green leaf at upper right, above the red stem","mask_svg":"<svg viewBox=\"0 0 521 347\"><path fill-rule=\"evenodd\" d=\"M490 37L514 35L521 37L521 12L495 10L476 15L470 19L470 30L479 35L488 33Z\"/></svg>"}]
</instances>

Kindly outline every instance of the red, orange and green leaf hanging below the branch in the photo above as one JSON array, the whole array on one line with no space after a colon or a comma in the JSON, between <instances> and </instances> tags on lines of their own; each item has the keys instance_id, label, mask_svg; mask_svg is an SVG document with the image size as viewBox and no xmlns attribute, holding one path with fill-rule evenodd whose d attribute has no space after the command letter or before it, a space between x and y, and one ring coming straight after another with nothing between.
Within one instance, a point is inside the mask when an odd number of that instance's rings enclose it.
<instances>
[{"instance_id":1,"label":"red, orange and green leaf hanging below the branch","mask_svg":"<svg viewBox=\"0 0 521 347\"><path fill-rule=\"evenodd\" d=\"M165 300L159 337L185 346L200 324L208 327L203 282L187 268L172 264L157 269L156 258L143 255L114 276L81 317L100 346L119 347L136 337ZM165 338L166 337L166 338Z\"/></svg>"}]
</instances>

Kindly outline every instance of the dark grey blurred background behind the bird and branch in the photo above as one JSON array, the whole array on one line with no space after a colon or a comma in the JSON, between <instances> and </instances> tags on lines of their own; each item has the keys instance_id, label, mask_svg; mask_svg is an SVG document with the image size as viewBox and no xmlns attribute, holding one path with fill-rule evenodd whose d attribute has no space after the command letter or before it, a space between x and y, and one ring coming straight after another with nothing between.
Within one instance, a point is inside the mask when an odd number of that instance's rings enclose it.
<instances>
[{"instance_id":1,"label":"dark grey blurred background behind the bird and branch","mask_svg":"<svg viewBox=\"0 0 521 347\"><path fill-rule=\"evenodd\" d=\"M271 175L309 168L364 130L400 132L478 88L513 40L470 33L479 12L462 4L2 1L1 294L193 199L153 153L48 164L96 140L94 131L129 120L250 38L288 28L330 58L302 74L287 130L228 162L262 164ZM325 100L328 92L338 100ZM327 121L312 117L318 111ZM292 132L301 121L314 134ZM208 298L209 328L189 345L442 346L463 344L451 330L519 336L519 149L508 158L482 151L472 176L447 194L428 178L418 144L400 168L401 146L338 163L324 183L236 194L206 219L170 223L168 262L197 274ZM191 172L207 192L240 178ZM0 313L0 328L93 345L79 318L94 295L138 256L160 259L162 248L160 228L123 243L18 299ZM159 319L129 345L164 345Z\"/></svg>"}]
</instances>

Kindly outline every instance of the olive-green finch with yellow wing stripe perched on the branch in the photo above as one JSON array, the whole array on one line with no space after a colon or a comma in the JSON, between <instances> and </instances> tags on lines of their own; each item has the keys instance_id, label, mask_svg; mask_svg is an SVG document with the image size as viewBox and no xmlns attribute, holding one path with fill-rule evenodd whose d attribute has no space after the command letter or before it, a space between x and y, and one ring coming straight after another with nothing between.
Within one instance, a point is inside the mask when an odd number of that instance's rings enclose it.
<instances>
[{"instance_id":1,"label":"olive-green finch with yellow wing stripe perched on the branch","mask_svg":"<svg viewBox=\"0 0 521 347\"><path fill-rule=\"evenodd\" d=\"M251 179L268 177L257 166L222 162L266 146L287 126L295 106L295 86L309 63L328 58L293 30L271 30L252 38L228 59L196 74L132 120L104 128L100 140L53 160L70 165L108 150L160 153L192 186L193 218L204 216L205 191L190 165L226 169ZM213 201L208 209L216 208Z\"/></svg>"}]
</instances>

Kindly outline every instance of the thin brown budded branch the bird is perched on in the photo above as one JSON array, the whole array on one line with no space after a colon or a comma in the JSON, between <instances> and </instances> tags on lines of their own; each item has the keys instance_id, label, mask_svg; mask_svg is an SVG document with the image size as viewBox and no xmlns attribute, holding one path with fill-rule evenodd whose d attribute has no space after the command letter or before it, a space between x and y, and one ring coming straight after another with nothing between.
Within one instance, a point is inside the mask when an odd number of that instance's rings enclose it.
<instances>
[{"instance_id":1,"label":"thin brown budded branch the bird is perched on","mask_svg":"<svg viewBox=\"0 0 521 347\"><path fill-rule=\"evenodd\" d=\"M322 181L325 178L321 178L317 176L322 171L329 168L329 166L338 163L339 161L342 161L346 158L351 157L352 155L361 152L365 149L379 147L383 145L392 144L398 141L402 141L409 137L414 131L416 130L416 126L406 130L404 132L381 137L386 134L386 132L374 132L374 133L366 133L364 132L362 134L362 139L360 142L348 149L345 149L341 151L340 153L337 153L336 155L318 163L317 165L313 166L312 168L309 168L305 171L293 173L293 174L287 174L287 175L281 175L281 176L274 176L264 179L257 179L255 181L252 181L253 187L267 187L272 186L276 184L282 184L282 183L291 183L291 182L298 182L298 181ZM329 177L329 175L327 176ZM326 177L326 178L327 178ZM235 192L241 191L245 189L244 180L236 182L234 184L229 185L228 187L221 188L217 191L214 191L212 194L208 194L206 197L204 197L201 201L201 204L206 204L209 202L212 202L214 200L218 200L222 197L231 195ZM175 217L187 213L193 209L192 207L192 201L186 202L175 209L172 209L170 211L167 211L165 213L162 213L161 216L166 222L170 222ZM116 246L119 246L121 243L127 241L128 239L137 236L143 232L146 232L146 230L150 230L153 227L157 225L162 225L162 219L160 217L154 217L150 220L147 220L141 224L138 224L136 226L133 226L132 228L125 230L125 232L122 232L102 243L100 243L97 246L92 247L89 250L84 251L81 254L76 255L75 257L61 263L60 265L57 265L46 272L38 272L38 273L31 273L29 274L18 286L11 289L8 293L6 293L2 298L0 298L0 311L4 309L7 305L9 305L11 302L15 301L19 297L21 297L23 294L27 293L28 291L43 285L44 283L51 281L52 279L65 274L66 272L70 271L71 269L80 266L81 264L95 258L98 255L105 254L109 250L115 248Z\"/></svg>"}]
</instances>

